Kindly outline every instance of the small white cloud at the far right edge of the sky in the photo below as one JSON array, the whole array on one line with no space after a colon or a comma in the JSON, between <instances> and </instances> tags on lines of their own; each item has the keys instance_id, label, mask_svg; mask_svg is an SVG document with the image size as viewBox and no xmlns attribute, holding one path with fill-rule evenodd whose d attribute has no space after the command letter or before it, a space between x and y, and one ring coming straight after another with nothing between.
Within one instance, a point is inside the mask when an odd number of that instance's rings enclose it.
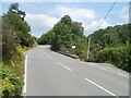
<instances>
[{"instance_id":1,"label":"small white cloud at the far right edge of the sky","mask_svg":"<svg viewBox=\"0 0 131 98\"><path fill-rule=\"evenodd\" d=\"M120 17L123 19L126 22L129 22L129 5L121 9Z\"/></svg>"}]
</instances>

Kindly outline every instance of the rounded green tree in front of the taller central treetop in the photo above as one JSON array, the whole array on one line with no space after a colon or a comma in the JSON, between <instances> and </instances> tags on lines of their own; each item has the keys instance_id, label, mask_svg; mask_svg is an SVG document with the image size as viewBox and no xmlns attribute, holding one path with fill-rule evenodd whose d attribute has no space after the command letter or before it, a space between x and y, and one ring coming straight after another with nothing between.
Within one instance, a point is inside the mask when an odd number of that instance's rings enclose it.
<instances>
[{"instance_id":1,"label":"rounded green tree in front of the taller central treetop","mask_svg":"<svg viewBox=\"0 0 131 98\"><path fill-rule=\"evenodd\" d=\"M72 45L72 29L69 25L58 22L53 26L55 38L52 44L53 50L60 50L60 48L70 48Z\"/></svg>"}]
</instances>

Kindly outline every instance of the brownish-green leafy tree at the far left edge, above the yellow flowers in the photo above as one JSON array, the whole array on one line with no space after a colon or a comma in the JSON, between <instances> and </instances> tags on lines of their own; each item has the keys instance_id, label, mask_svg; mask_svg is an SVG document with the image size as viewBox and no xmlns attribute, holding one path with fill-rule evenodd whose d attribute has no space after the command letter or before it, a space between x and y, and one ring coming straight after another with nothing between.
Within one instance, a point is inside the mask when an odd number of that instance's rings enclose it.
<instances>
[{"instance_id":1,"label":"brownish-green leafy tree at the far left edge, above the yellow flowers","mask_svg":"<svg viewBox=\"0 0 131 98\"><path fill-rule=\"evenodd\" d=\"M2 59L3 61L12 60L16 51L16 44L20 42L16 30L10 25L7 16L2 19Z\"/></svg>"}]
</instances>

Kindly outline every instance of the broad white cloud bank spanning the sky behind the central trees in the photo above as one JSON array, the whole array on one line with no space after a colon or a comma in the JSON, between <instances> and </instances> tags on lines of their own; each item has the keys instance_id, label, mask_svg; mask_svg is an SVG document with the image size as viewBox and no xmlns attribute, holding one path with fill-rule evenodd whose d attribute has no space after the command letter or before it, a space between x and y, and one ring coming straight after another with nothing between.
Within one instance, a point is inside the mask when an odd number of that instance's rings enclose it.
<instances>
[{"instance_id":1,"label":"broad white cloud bank spanning the sky behind the central trees","mask_svg":"<svg viewBox=\"0 0 131 98\"><path fill-rule=\"evenodd\" d=\"M82 22L83 26L85 27L85 35L93 33L102 22L102 19L96 20L96 12L90 9L57 5L55 9L50 9L47 12L48 14L26 15L25 20L31 25L32 32L37 37L51 29L53 24L56 24L66 14L69 14L73 21ZM108 21L109 19L102 24L100 28L109 26Z\"/></svg>"}]
</instances>

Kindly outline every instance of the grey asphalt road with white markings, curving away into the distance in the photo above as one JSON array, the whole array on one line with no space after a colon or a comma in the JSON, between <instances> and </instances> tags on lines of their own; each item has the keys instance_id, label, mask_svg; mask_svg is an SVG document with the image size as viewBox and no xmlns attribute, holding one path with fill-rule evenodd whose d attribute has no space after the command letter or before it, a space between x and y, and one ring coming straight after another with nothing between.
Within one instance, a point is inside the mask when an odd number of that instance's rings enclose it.
<instances>
[{"instance_id":1,"label":"grey asphalt road with white markings, curving away into the distance","mask_svg":"<svg viewBox=\"0 0 131 98\"><path fill-rule=\"evenodd\" d=\"M38 46L26 52L26 96L129 96L129 74Z\"/></svg>"}]
</instances>

